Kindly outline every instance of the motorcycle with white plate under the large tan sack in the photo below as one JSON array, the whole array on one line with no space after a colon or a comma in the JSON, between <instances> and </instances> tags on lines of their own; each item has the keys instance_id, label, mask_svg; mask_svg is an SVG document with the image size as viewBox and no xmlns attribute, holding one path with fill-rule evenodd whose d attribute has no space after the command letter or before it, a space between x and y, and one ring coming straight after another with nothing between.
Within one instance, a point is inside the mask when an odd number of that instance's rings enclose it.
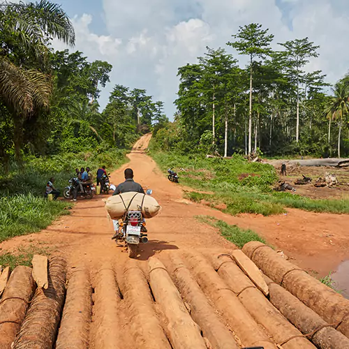
<instances>
[{"instance_id":1,"label":"motorcycle with white plate under the large tan sack","mask_svg":"<svg viewBox=\"0 0 349 349\"><path fill-rule=\"evenodd\" d=\"M147 190L147 195L151 195L153 191ZM139 244L147 244L148 235L144 225L142 211L127 211L124 217L119 221L114 221L114 230L117 232L115 242L118 240L125 242L128 249L128 257L135 258L138 254Z\"/></svg>"}]
</instances>

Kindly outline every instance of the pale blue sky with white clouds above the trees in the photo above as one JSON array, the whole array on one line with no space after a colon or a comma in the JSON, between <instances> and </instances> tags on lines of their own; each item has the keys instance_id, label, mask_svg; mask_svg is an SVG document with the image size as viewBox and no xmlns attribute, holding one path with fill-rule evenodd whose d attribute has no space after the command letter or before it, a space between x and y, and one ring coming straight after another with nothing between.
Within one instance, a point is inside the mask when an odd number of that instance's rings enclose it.
<instances>
[{"instance_id":1,"label":"pale blue sky with white clouds above the trees","mask_svg":"<svg viewBox=\"0 0 349 349\"><path fill-rule=\"evenodd\" d=\"M349 70L348 0L58 0L75 27L79 50L90 60L108 61L110 83L101 92L101 108L115 84L147 89L154 101L175 112L180 66L193 64L206 47L225 47L239 26L260 23L277 43L309 37L320 57L307 70L322 70L334 83ZM63 50L54 41L54 48ZM239 57L244 66L245 57Z\"/></svg>"}]
</instances>

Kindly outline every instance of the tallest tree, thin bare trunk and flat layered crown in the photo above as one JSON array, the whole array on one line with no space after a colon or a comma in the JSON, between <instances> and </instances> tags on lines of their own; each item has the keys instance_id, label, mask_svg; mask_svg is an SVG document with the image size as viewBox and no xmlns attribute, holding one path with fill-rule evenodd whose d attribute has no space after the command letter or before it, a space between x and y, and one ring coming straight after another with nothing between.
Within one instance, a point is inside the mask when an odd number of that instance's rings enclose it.
<instances>
[{"instance_id":1,"label":"tallest tree, thin bare trunk and flat layered crown","mask_svg":"<svg viewBox=\"0 0 349 349\"><path fill-rule=\"evenodd\" d=\"M270 50L270 43L274 39L274 35L268 35L269 29L262 29L261 24L251 23L244 27L239 27L237 34L232 37L235 42L228 43L241 54L246 54L250 59L250 104L248 116L248 154L252 153L252 89L253 89L253 61L255 58L267 57Z\"/></svg>"}]
</instances>

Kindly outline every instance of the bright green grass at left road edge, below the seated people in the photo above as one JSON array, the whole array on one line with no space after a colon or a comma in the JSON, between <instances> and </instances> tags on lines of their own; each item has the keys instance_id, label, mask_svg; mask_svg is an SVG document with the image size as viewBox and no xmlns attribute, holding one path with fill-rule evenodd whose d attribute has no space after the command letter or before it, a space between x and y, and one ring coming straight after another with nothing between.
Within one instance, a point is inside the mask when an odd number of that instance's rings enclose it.
<instances>
[{"instance_id":1,"label":"bright green grass at left road edge, below the seated people","mask_svg":"<svg viewBox=\"0 0 349 349\"><path fill-rule=\"evenodd\" d=\"M0 242L47 228L57 217L69 214L70 202L48 201L32 194L0 198Z\"/></svg>"}]
</instances>

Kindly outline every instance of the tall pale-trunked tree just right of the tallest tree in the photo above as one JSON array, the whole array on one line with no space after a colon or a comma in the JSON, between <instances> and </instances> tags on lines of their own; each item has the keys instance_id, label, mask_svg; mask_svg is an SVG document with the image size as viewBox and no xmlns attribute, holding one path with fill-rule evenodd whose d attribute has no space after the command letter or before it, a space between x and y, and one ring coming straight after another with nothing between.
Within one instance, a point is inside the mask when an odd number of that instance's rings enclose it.
<instances>
[{"instance_id":1,"label":"tall pale-trunked tree just right of the tallest tree","mask_svg":"<svg viewBox=\"0 0 349 349\"><path fill-rule=\"evenodd\" d=\"M299 142L299 101L301 84L304 84L305 72L304 66L309 63L309 58L318 57L319 46L309 41L309 38L296 39L280 43L279 45L285 48L282 56L285 61L285 70L288 73L290 80L295 84L297 91L297 116L296 116L296 142Z\"/></svg>"}]
</instances>

